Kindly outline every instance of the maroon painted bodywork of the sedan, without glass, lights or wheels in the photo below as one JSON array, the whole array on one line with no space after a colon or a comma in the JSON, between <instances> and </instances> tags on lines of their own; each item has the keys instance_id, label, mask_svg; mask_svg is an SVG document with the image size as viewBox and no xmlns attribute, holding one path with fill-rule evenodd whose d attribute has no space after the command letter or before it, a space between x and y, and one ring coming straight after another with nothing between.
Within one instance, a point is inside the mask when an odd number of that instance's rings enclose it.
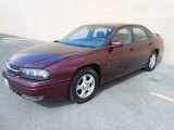
<instances>
[{"instance_id":1,"label":"maroon painted bodywork of the sedan, without glass, lights or wheels","mask_svg":"<svg viewBox=\"0 0 174 130\"><path fill-rule=\"evenodd\" d=\"M132 25L110 24L102 26L113 26L116 29ZM66 99L73 76L85 66L95 66L100 75L100 84L103 84L145 67L150 54L157 49L159 50L158 60L160 61L162 57L163 44L159 36L153 35L149 40L130 43L121 48L112 48L110 39L103 47L91 49L59 43L36 46L22 50L10 58L10 63L17 66L45 68L51 72L51 80L32 81L23 79L20 77L21 72L14 77L9 76L4 70L2 70L2 74L9 80L11 89L18 94L45 95L44 100ZM45 57L37 56L29 58L30 61L24 60L30 57L36 52L38 55L45 53ZM24 58L23 54L26 54Z\"/></svg>"}]
</instances>

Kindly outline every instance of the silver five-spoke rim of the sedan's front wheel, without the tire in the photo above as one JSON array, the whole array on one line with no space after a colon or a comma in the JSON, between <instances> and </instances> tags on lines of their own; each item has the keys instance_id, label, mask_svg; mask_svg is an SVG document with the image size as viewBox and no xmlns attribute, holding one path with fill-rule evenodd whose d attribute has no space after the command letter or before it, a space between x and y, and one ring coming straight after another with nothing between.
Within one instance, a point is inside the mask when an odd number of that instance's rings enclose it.
<instances>
[{"instance_id":1,"label":"silver five-spoke rim of the sedan's front wheel, without the tire","mask_svg":"<svg viewBox=\"0 0 174 130\"><path fill-rule=\"evenodd\" d=\"M88 98L95 90L95 78L91 75L84 75L77 82L76 94L82 98Z\"/></svg>"}]
</instances>

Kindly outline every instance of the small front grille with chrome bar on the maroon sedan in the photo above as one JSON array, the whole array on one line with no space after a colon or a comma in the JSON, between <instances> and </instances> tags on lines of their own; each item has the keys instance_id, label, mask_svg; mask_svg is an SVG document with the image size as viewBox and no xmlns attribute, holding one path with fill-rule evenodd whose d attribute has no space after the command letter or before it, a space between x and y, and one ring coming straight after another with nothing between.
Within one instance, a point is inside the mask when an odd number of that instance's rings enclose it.
<instances>
[{"instance_id":1,"label":"small front grille with chrome bar on the maroon sedan","mask_svg":"<svg viewBox=\"0 0 174 130\"><path fill-rule=\"evenodd\" d=\"M5 73L10 76L15 76L20 72L21 67L7 63Z\"/></svg>"}]
</instances>

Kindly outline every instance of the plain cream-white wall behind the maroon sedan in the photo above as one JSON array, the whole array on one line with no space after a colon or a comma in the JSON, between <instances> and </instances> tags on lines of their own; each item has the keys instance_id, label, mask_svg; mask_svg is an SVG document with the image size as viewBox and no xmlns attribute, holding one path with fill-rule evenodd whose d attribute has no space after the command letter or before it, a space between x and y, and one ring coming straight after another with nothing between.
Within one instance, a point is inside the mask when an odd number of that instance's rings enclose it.
<instances>
[{"instance_id":1,"label":"plain cream-white wall behind the maroon sedan","mask_svg":"<svg viewBox=\"0 0 174 130\"><path fill-rule=\"evenodd\" d=\"M137 23L159 32L174 63L174 0L0 0L0 32L52 41L76 26Z\"/></svg>"}]
</instances>

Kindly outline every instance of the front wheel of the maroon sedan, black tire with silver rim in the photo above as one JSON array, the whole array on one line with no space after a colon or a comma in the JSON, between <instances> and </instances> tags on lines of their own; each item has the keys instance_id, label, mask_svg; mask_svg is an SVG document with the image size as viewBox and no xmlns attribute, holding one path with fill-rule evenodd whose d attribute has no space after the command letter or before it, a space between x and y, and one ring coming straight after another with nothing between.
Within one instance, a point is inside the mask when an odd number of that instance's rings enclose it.
<instances>
[{"instance_id":1,"label":"front wheel of the maroon sedan, black tire with silver rim","mask_svg":"<svg viewBox=\"0 0 174 130\"><path fill-rule=\"evenodd\" d=\"M97 73L89 67L83 68L73 77L70 86L70 99L75 103L89 101L99 86Z\"/></svg>"}]
</instances>

